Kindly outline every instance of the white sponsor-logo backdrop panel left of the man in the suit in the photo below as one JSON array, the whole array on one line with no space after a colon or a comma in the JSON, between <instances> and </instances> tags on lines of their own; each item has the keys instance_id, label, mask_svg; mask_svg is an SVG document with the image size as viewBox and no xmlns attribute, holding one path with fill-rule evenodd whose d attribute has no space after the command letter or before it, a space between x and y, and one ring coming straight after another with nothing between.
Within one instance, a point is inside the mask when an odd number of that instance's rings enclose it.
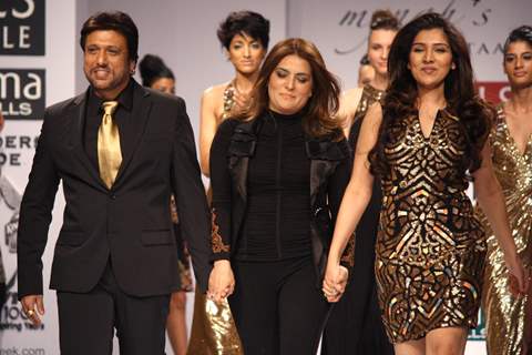
<instances>
[{"instance_id":1,"label":"white sponsor-logo backdrop panel left of the man in the suit","mask_svg":"<svg viewBox=\"0 0 532 355\"><path fill-rule=\"evenodd\" d=\"M44 292L44 322L32 326L17 300L16 252L20 200L44 108L74 94L74 21L75 1L0 1L0 110L6 118L0 133L0 251L8 288L0 354L59 354L55 294ZM60 192L43 256L45 286L62 206Z\"/></svg>"}]
</instances>

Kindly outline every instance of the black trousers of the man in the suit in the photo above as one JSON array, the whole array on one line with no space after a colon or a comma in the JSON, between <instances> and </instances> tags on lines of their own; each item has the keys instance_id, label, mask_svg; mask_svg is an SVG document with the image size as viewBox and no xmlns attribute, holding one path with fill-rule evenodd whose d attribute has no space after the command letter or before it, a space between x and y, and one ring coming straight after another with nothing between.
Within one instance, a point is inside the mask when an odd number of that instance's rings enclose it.
<instances>
[{"instance_id":1,"label":"black trousers of the man in the suit","mask_svg":"<svg viewBox=\"0 0 532 355\"><path fill-rule=\"evenodd\" d=\"M111 355L116 328L121 355L163 355L170 295L123 293L108 264L89 293L58 291L62 355Z\"/></svg>"}]
</instances>

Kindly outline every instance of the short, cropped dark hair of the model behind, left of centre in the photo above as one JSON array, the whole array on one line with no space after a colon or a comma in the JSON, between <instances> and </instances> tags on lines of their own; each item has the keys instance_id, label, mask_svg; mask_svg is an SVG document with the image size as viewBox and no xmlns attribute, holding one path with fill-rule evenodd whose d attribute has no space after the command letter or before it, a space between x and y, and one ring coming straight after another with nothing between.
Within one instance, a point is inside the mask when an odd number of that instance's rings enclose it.
<instances>
[{"instance_id":1,"label":"short, cropped dark hair of the model behind, left of centre","mask_svg":"<svg viewBox=\"0 0 532 355\"><path fill-rule=\"evenodd\" d=\"M216 34L225 49L229 49L231 40L236 34L245 33L258 40L265 49L269 43L269 21L260 13L253 11L231 12L227 18L219 23Z\"/></svg>"}]
</instances>

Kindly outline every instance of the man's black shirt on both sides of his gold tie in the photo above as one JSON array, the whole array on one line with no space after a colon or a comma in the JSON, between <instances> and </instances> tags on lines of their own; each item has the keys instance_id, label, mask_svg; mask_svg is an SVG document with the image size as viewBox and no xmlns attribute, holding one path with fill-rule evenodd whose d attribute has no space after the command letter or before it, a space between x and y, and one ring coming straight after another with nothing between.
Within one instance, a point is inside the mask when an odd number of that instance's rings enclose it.
<instances>
[{"instance_id":1,"label":"man's black shirt on both sides of his gold tie","mask_svg":"<svg viewBox=\"0 0 532 355\"><path fill-rule=\"evenodd\" d=\"M132 109L133 109L133 84L132 80L127 87L119 94L116 101L119 106L114 111L113 121L119 125L119 133L125 132L129 128L129 122L131 122ZM102 123L103 109L102 103L103 99L96 97L94 89L91 87L89 89L89 95L86 100L86 110L85 110L85 128L83 130L83 146L89 160L96 169L98 165L98 130ZM122 150L122 156L125 152L129 152L133 146L127 146L126 140L120 140L120 148Z\"/></svg>"}]
</instances>

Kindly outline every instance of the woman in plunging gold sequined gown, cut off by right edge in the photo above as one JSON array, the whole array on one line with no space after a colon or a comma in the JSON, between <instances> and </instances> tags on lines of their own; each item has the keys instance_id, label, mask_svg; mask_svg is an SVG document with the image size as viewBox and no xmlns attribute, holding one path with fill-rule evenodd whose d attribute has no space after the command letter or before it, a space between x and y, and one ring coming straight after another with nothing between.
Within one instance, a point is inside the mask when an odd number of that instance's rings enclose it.
<instances>
[{"instance_id":1,"label":"woman in plunging gold sequined gown, cut off by right edge","mask_svg":"<svg viewBox=\"0 0 532 355\"><path fill-rule=\"evenodd\" d=\"M512 97L498 110L490 135L495 175L501 183L518 253L532 267L532 27L510 33L504 44L504 72ZM532 352L531 291L526 297L509 292L504 255L483 214L488 255L482 308L488 354L525 355Z\"/></svg>"}]
</instances>

